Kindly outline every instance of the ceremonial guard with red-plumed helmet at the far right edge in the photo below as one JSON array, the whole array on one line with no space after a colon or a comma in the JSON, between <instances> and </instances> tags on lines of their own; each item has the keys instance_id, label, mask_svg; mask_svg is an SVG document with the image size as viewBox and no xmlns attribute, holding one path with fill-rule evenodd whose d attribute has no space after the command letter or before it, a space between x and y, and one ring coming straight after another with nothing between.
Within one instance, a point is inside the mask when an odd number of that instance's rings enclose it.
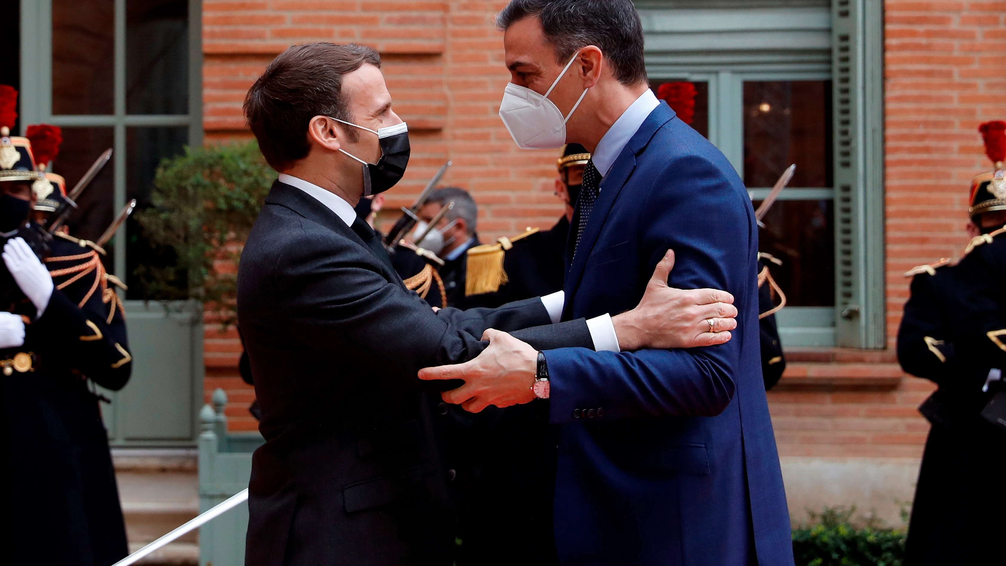
<instances>
[{"instance_id":1,"label":"ceremonial guard with red-plumed helmet at the far right edge","mask_svg":"<svg viewBox=\"0 0 1006 566\"><path fill-rule=\"evenodd\" d=\"M984 124L995 170L972 181L973 236L959 263L905 273L911 296L897 335L901 368L939 388L918 407L932 423L908 525L905 564L978 564L1001 556L1006 493L1006 123Z\"/></svg>"}]
</instances>

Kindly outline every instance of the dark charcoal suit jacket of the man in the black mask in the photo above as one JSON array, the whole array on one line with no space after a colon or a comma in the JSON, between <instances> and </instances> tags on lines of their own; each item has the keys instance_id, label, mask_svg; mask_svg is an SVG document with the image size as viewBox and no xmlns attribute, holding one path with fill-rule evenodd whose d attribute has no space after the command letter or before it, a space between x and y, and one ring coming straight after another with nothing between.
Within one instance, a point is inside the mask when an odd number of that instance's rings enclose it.
<instances>
[{"instance_id":1,"label":"dark charcoal suit jacket of the man in the black mask","mask_svg":"<svg viewBox=\"0 0 1006 566\"><path fill-rule=\"evenodd\" d=\"M541 302L435 315L386 256L280 182L237 287L266 437L253 456L245 563L450 564L455 474L438 441L439 395L415 374L478 355L488 327L546 325ZM514 334L539 349L593 346L583 321Z\"/></svg>"}]
</instances>

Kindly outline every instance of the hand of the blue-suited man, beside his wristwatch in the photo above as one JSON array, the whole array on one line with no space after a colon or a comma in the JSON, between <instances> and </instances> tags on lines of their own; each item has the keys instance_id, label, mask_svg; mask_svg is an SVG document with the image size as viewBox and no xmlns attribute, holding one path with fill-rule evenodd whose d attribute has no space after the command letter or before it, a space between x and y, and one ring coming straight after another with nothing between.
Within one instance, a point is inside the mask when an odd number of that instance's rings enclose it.
<instances>
[{"instance_id":1,"label":"hand of the blue-suited man, beside his wristwatch","mask_svg":"<svg viewBox=\"0 0 1006 566\"><path fill-rule=\"evenodd\" d=\"M534 400L538 351L505 332L487 330L489 347L474 360L420 370L420 379L462 379L465 385L441 394L444 401L477 413L489 405L509 407Z\"/></svg>"}]
</instances>

